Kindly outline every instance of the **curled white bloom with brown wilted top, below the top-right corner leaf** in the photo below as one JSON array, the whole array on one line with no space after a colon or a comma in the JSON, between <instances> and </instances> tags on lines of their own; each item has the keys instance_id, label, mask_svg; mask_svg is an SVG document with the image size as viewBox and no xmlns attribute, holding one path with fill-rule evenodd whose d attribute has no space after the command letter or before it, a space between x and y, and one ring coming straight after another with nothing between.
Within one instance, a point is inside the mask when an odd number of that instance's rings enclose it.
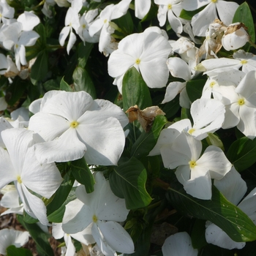
<instances>
[{"instance_id":1,"label":"curled white bloom with brown wilted top, below the top-right corner leaf","mask_svg":"<svg viewBox=\"0 0 256 256\"><path fill-rule=\"evenodd\" d=\"M249 41L249 34L243 23L233 23L227 26L227 30L222 37L222 46L225 50L236 50Z\"/></svg>"}]
</instances>

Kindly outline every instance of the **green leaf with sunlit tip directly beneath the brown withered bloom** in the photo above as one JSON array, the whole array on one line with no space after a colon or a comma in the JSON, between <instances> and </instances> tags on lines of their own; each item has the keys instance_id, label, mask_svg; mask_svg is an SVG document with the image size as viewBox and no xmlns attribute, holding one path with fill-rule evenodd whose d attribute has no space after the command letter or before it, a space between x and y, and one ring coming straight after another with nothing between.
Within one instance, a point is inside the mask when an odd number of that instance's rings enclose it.
<instances>
[{"instance_id":1,"label":"green leaf with sunlit tip directly beneath the brown withered bloom","mask_svg":"<svg viewBox=\"0 0 256 256\"><path fill-rule=\"evenodd\" d=\"M137 158L146 157L156 145L159 134L166 123L165 116L156 116L150 131L145 132L143 130L140 137L133 144L131 155Z\"/></svg>"}]
</instances>

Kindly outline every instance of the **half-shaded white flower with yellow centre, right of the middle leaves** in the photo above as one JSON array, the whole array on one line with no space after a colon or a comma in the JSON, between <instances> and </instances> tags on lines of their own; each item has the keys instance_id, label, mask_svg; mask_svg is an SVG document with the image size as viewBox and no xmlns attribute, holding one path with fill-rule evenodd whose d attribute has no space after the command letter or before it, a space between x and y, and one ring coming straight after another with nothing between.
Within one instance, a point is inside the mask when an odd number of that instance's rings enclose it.
<instances>
[{"instance_id":1,"label":"half-shaded white flower with yellow centre, right of the middle leaves","mask_svg":"<svg viewBox=\"0 0 256 256\"><path fill-rule=\"evenodd\" d=\"M210 200L211 178L223 178L232 165L217 146L208 146L200 157L201 151L202 143L187 132L181 132L172 143L160 147L165 167L177 167L176 177L186 192Z\"/></svg>"}]
</instances>

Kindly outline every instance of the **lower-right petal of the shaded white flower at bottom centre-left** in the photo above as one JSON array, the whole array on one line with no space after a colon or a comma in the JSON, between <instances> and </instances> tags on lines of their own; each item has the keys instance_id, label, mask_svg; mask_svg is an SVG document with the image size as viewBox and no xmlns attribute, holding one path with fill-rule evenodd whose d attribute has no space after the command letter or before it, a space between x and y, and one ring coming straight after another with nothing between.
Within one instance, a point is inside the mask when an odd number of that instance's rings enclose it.
<instances>
[{"instance_id":1,"label":"lower-right petal of the shaded white flower at bottom centre-left","mask_svg":"<svg viewBox=\"0 0 256 256\"><path fill-rule=\"evenodd\" d=\"M98 222L100 232L112 249L122 253L133 253L134 244L124 227L117 222Z\"/></svg>"}]
</instances>

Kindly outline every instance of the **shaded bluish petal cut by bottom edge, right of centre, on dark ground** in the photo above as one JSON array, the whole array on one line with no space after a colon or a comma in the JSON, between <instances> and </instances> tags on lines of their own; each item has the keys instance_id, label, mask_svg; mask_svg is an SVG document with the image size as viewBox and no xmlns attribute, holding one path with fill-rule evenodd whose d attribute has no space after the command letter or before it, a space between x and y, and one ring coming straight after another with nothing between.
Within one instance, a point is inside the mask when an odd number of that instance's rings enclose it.
<instances>
[{"instance_id":1,"label":"shaded bluish petal cut by bottom edge, right of centre, on dark ground","mask_svg":"<svg viewBox=\"0 0 256 256\"><path fill-rule=\"evenodd\" d=\"M192 246L187 232L179 232L165 239L162 245L163 256L197 256L198 250Z\"/></svg>"}]
</instances>

